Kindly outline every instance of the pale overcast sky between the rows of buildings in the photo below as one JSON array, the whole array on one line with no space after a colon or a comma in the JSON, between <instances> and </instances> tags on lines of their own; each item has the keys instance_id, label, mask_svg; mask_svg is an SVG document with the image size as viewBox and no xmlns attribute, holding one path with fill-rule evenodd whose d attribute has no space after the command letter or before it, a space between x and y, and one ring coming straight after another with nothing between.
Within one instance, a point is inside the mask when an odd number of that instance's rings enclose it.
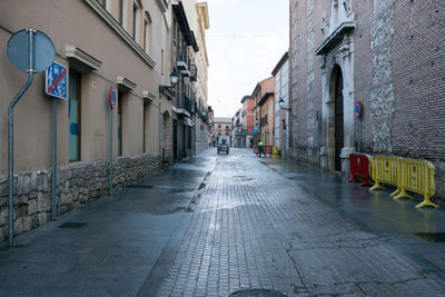
<instances>
[{"instance_id":1,"label":"pale overcast sky between the rows of buildings","mask_svg":"<svg viewBox=\"0 0 445 297\"><path fill-rule=\"evenodd\" d=\"M243 96L271 71L289 43L288 0L207 0L208 103L233 117Z\"/></svg>"}]
</instances>

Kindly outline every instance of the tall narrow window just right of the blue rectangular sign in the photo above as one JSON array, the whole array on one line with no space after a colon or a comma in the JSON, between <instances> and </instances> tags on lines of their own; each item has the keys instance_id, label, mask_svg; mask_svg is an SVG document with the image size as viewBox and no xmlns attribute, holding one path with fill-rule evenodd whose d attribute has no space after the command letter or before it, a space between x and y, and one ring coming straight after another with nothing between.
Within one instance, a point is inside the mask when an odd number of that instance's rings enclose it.
<instances>
[{"instance_id":1,"label":"tall narrow window just right of the blue rectangular sign","mask_svg":"<svg viewBox=\"0 0 445 297\"><path fill-rule=\"evenodd\" d=\"M69 71L69 136L68 160L80 160L80 75L72 69Z\"/></svg>"}]
</instances>

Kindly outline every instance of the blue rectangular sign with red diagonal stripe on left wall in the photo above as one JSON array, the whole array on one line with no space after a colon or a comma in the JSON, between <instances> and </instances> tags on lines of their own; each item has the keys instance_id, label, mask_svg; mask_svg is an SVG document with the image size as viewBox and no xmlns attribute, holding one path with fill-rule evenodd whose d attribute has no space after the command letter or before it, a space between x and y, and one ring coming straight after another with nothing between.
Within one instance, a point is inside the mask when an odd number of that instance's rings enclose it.
<instances>
[{"instance_id":1,"label":"blue rectangular sign with red diagonal stripe on left wall","mask_svg":"<svg viewBox=\"0 0 445 297\"><path fill-rule=\"evenodd\" d=\"M60 99L68 99L68 68L52 62L44 71L44 92Z\"/></svg>"}]
</instances>

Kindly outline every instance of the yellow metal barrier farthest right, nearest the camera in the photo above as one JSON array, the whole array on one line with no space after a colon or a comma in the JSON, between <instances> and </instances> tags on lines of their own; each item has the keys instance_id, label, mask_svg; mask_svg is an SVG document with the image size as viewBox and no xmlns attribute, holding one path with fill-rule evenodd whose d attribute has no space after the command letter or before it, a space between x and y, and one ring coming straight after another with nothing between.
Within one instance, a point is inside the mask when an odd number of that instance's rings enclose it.
<instances>
[{"instance_id":1,"label":"yellow metal barrier farthest right, nearest the camera","mask_svg":"<svg viewBox=\"0 0 445 297\"><path fill-rule=\"evenodd\" d=\"M434 165L424 160L402 159L399 164L400 179L399 179L399 194L394 198L409 196L406 190L414 191L424 196L424 201L416 206L421 208L424 206L438 207L431 201L431 197L435 194L434 186Z\"/></svg>"}]
</instances>

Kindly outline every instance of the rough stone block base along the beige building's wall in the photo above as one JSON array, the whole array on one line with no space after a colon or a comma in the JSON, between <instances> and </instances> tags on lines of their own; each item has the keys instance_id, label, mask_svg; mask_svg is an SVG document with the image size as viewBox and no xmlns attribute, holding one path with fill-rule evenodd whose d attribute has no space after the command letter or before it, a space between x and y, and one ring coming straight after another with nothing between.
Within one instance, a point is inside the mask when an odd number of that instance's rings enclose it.
<instances>
[{"instance_id":1,"label":"rough stone block base along the beige building's wall","mask_svg":"<svg viewBox=\"0 0 445 297\"><path fill-rule=\"evenodd\" d=\"M160 168L160 156L144 154L113 161L113 188L120 188ZM109 195L109 161L75 162L58 168L57 212L62 215ZM0 242L8 237L8 176L0 177ZM34 229L51 216L51 170L14 175L14 235Z\"/></svg>"}]
</instances>

